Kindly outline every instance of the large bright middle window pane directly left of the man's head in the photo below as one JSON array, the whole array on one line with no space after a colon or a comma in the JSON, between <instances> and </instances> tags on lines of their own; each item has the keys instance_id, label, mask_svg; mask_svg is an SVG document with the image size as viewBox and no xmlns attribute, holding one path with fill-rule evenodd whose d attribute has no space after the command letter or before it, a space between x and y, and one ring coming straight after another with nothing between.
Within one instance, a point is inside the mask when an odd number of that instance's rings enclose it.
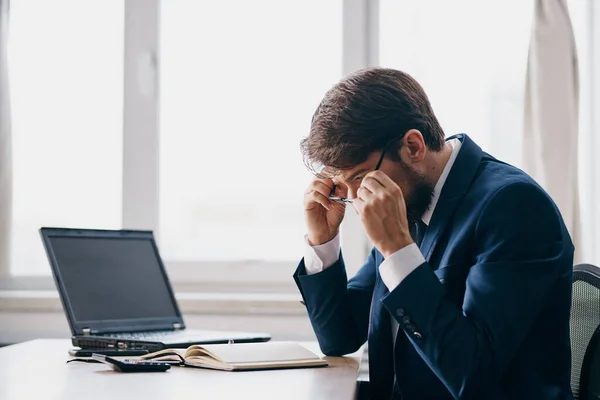
<instances>
[{"instance_id":1,"label":"large bright middle window pane directly left of the man's head","mask_svg":"<svg viewBox=\"0 0 600 400\"><path fill-rule=\"evenodd\" d=\"M299 142L342 73L342 1L161 10L160 239L169 261L296 261Z\"/></svg>"}]
</instances>

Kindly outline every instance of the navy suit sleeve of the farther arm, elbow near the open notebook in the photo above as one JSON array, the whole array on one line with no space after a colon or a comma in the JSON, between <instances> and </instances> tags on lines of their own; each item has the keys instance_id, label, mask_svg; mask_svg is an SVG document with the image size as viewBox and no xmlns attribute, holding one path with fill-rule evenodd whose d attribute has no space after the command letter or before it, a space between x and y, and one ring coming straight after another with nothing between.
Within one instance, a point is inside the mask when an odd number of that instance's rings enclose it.
<instances>
[{"instance_id":1,"label":"navy suit sleeve of the farther arm, elbow near the open notebook","mask_svg":"<svg viewBox=\"0 0 600 400\"><path fill-rule=\"evenodd\" d=\"M294 280L325 355L353 353L365 343L375 285L375 250L350 281L341 253L331 267L314 275L306 274L302 260Z\"/></svg>"}]
</instances>

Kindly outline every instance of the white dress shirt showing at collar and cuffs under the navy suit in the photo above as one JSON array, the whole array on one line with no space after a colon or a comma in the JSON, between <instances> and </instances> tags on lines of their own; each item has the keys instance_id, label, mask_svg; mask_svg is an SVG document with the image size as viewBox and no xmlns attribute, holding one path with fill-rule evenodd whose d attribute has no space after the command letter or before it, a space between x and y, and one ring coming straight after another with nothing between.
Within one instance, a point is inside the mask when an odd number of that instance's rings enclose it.
<instances>
[{"instance_id":1,"label":"white dress shirt showing at collar and cuffs under the navy suit","mask_svg":"<svg viewBox=\"0 0 600 400\"><path fill-rule=\"evenodd\" d=\"M452 169L454 161L456 161L456 156L458 155L460 147L462 146L462 142L458 139L449 140L447 143L452 146L452 154L450 155L448 162L446 162L444 170L442 171L440 178L433 188L433 197L431 198L429 208L421 217L421 220L427 226L429 226L429 222L431 221L435 206L440 198L440 193L442 192L444 183L446 183L448 174L450 174L450 170ZM306 269L306 273L308 275L319 273L335 264L340 255L339 236L340 235L338 234L329 242L317 246L311 246L308 243L308 235L304 236L304 241L306 243L304 251L304 268ZM423 257L423 254L421 253L421 250L419 250L417 244L409 244L408 246L403 247L390 255L379 265L379 274L381 275L381 280L383 280L383 283L391 292L400 284L400 282L404 280L404 278L406 278L412 271L417 269L417 267L424 262L425 257ZM394 318L392 318L392 332L395 341L396 333L398 332L398 323Z\"/></svg>"}]
</instances>

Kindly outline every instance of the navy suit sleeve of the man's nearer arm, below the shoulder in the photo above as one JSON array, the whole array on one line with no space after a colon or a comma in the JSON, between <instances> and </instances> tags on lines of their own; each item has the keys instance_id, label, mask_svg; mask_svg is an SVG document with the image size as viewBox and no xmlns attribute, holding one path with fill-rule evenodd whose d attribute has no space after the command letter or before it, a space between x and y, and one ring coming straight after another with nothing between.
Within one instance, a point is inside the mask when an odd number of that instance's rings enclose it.
<instances>
[{"instance_id":1,"label":"navy suit sleeve of the man's nearer arm, below the shoulder","mask_svg":"<svg viewBox=\"0 0 600 400\"><path fill-rule=\"evenodd\" d=\"M382 299L455 398L484 397L501 379L573 246L537 186L512 183L483 207L462 309L425 263ZM570 261L568 261L570 260Z\"/></svg>"}]
</instances>

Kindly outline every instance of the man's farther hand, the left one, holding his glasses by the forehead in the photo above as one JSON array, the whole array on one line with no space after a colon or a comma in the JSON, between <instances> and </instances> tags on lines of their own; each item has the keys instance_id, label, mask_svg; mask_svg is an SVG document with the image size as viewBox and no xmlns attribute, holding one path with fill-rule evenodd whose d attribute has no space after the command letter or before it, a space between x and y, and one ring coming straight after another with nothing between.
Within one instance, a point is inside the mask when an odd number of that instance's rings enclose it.
<instances>
[{"instance_id":1,"label":"man's farther hand, the left one, holding his glasses by the forehead","mask_svg":"<svg viewBox=\"0 0 600 400\"><path fill-rule=\"evenodd\" d=\"M304 215L308 227L308 242L317 246L329 242L339 232L346 205L329 200L333 181L316 178L304 193Z\"/></svg>"}]
</instances>

